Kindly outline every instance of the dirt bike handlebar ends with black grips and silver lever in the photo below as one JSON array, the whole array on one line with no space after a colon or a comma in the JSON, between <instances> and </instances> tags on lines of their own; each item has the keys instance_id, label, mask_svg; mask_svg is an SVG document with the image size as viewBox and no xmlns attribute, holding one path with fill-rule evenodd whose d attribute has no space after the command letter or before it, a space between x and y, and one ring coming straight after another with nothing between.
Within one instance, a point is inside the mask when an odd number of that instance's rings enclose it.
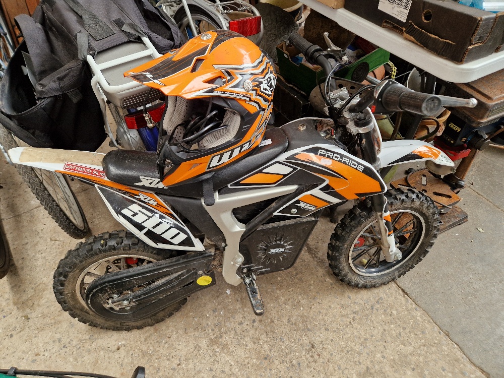
<instances>
[{"instance_id":1,"label":"dirt bike handlebar ends with black grips and silver lever","mask_svg":"<svg viewBox=\"0 0 504 378\"><path fill-rule=\"evenodd\" d=\"M326 75L330 75L332 66L324 56L325 51L320 46L308 42L297 33L289 36L289 42L303 53L308 62L321 66ZM368 79L373 79L370 82L373 84L376 83L374 78L368 77ZM478 104L474 98L462 99L415 92L394 80L385 80L376 84L374 91L368 92L359 102L349 107L348 110L351 113L361 112L366 107L374 104L376 107L374 110L375 113L408 111L432 116L437 115L443 106L467 106L473 108Z\"/></svg>"}]
</instances>

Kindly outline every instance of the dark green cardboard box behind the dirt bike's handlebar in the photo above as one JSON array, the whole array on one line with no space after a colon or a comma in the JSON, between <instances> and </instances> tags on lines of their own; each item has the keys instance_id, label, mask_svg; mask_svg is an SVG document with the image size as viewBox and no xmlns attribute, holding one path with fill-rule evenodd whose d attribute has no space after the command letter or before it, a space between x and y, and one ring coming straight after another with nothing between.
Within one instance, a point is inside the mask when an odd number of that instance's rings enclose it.
<instances>
[{"instance_id":1,"label":"dark green cardboard box behind the dirt bike's handlebar","mask_svg":"<svg viewBox=\"0 0 504 378\"><path fill-rule=\"evenodd\" d=\"M285 43L277 46L278 67L280 75L289 83L294 84L307 96L313 88L326 76L319 66L311 66L304 62L299 65L292 61L292 57L300 53L294 47L287 47ZM390 53L383 48L377 48L351 65L335 73L336 77L361 82L367 74L383 66L390 59Z\"/></svg>"}]
</instances>

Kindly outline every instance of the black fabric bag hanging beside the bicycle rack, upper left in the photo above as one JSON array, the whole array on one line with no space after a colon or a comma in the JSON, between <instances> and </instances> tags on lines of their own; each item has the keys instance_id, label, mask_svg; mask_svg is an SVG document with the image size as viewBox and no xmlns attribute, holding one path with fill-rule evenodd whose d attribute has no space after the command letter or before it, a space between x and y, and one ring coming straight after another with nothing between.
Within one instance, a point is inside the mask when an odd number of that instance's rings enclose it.
<instances>
[{"instance_id":1,"label":"black fabric bag hanging beside the bicycle rack, upper left","mask_svg":"<svg viewBox=\"0 0 504 378\"><path fill-rule=\"evenodd\" d=\"M141 36L160 53L182 44L147 0L41 0L33 18L16 23L24 40L0 82L0 110L11 122L0 122L30 145L60 149L95 151L106 137L88 54Z\"/></svg>"}]
</instances>

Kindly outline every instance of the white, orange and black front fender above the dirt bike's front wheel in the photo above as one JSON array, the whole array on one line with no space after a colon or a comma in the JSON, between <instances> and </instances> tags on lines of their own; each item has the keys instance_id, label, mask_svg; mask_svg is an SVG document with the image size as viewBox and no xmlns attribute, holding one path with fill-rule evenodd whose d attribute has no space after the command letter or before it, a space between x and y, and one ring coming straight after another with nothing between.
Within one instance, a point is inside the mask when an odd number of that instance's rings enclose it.
<instances>
[{"instance_id":1,"label":"white, orange and black front fender above the dirt bike's front wheel","mask_svg":"<svg viewBox=\"0 0 504 378\"><path fill-rule=\"evenodd\" d=\"M447 167L454 166L453 161L443 151L428 143L415 140L383 142L382 151L378 157L381 168L422 160L430 160Z\"/></svg>"}]
</instances>

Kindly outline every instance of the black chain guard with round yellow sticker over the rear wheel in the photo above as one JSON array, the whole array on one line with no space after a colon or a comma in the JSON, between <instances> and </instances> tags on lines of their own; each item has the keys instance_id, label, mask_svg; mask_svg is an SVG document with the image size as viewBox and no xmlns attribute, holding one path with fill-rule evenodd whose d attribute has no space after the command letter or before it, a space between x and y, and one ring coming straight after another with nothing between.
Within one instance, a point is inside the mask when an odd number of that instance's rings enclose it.
<instances>
[{"instance_id":1,"label":"black chain guard with round yellow sticker over the rear wheel","mask_svg":"<svg viewBox=\"0 0 504 378\"><path fill-rule=\"evenodd\" d=\"M111 321L146 319L215 285L213 260L213 253L197 252L105 274L90 283L84 300L90 310Z\"/></svg>"}]
</instances>

